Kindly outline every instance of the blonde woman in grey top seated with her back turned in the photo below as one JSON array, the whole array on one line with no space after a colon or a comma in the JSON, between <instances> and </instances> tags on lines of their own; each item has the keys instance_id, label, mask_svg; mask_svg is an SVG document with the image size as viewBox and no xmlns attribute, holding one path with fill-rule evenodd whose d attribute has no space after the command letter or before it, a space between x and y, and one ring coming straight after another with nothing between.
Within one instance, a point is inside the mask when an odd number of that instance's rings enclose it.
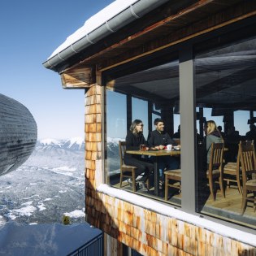
<instances>
[{"instance_id":1,"label":"blonde woman in grey top seated with her back turned","mask_svg":"<svg viewBox=\"0 0 256 256\"><path fill-rule=\"evenodd\" d=\"M214 143L223 143L223 137L221 136L221 133L219 132L219 129L217 128L217 125L215 124L215 121L209 120L206 122L205 125L205 144L206 144L206 156L207 156L207 167L210 163L210 146Z\"/></svg>"}]
</instances>

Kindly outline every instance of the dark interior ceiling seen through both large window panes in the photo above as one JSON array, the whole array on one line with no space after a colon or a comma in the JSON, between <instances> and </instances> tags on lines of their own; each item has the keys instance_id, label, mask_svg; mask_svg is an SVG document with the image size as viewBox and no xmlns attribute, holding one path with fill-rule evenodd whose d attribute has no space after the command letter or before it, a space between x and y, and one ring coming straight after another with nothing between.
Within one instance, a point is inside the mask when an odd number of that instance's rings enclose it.
<instances>
[{"instance_id":1,"label":"dark interior ceiling seen through both large window panes","mask_svg":"<svg viewBox=\"0 0 256 256\"><path fill-rule=\"evenodd\" d=\"M256 41L198 54L195 61L197 105L256 110ZM179 63L173 61L115 80L115 89L173 106L179 99Z\"/></svg>"}]
</instances>

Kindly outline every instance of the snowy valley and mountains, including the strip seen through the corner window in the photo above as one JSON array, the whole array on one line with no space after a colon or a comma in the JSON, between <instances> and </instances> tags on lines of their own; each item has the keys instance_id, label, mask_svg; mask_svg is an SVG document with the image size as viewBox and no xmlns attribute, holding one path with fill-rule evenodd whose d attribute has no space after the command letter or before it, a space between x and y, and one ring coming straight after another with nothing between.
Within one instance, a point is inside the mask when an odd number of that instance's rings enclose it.
<instances>
[{"instance_id":1,"label":"snowy valley and mountains, including the strip seen through the corner window","mask_svg":"<svg viewBox=\"0 0 256 256\"><path fill-rule=\"evenodd\" d=\"M119 171L119 138L107 139L107 163ZM85 142L82 138L37 141L17 170L0 176L0 226L19 223L85 221Z\"/></svg>"}]
</instances>

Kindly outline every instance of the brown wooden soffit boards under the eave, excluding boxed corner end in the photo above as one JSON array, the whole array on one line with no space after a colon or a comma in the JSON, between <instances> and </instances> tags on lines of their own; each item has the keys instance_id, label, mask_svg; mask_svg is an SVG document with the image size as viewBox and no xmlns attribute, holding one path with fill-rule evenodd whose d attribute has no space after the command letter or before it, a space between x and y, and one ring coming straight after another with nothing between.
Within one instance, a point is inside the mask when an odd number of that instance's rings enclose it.
<instances>
[{"instance_id":1,"label":"brown wooden soffit boards under the eave, excluding boxed corner end","mask_svg":"<svg viewBox=\"0 0 256 256\"><path fill-rule=\"evenodd\" d=\"M171 15L149 28L135 33L122 41L99 50L97 53L85 58L81 63L98 63L98 68L102 72L117 67L132 60L153 54L158 50L175 46L181 42L188 41L194 37L209 33L218 28L223 28L239 20L243 20L256 15L254 2L240 2L236 6L229 7L205 15L207 4L208 12L215 10L210 4L221 6L219 1L200 1L192 7L184 9L176 15ZM202 10L201 10L202 9ZM202 19L193 20L202 16Z\"/></svg>"}]
</instances>

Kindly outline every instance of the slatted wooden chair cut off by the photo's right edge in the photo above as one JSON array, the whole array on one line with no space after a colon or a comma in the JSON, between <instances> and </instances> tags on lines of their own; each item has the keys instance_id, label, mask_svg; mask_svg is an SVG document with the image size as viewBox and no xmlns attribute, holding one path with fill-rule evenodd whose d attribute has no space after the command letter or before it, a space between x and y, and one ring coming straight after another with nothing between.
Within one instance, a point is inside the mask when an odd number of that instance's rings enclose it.
<instances>
[{"instance_id":1,"label":"slatted wooden chair cut off by the photo's right edge","mask_svg":"<svg viewBox=\"0 0 256 256\"><path fill-rule=\"evenodd\" d=\"M243 181L241 215L243 215L248 201L254 202L254 207L256 203L256 157L253 143L241 143L240 150ZM253 196L250 196L249 193L253 193Z\"/></svg>"}]
</instances>

